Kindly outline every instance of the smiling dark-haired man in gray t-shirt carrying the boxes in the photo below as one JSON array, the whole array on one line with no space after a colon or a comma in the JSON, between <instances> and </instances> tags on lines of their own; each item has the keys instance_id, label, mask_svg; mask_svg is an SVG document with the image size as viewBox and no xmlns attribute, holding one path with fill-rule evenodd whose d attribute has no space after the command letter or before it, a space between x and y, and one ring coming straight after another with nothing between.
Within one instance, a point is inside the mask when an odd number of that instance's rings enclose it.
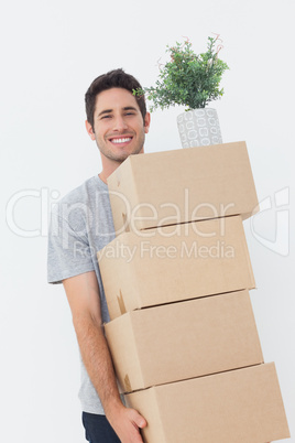
<instances>
[{"instance_id":1,"label":"smiling dark-haired man in gray t-shirt carrying the boxes","mask_svg":"<svg viewBox=\"0 0 295 443\"><path fill-rule=\"evenodd\" d=\"M150 128L138 80L122 69L88 88L86 130L100 151L102 171L56 205L48 237L48 282L63 282L81 355L79 398L86 440L139 443L146 421L121 401L103 334L109 321L96 253L114 238L107 177L130 155L143 153ZM116 275L114 275L116 278Z\"/></svg>"}]
</instances>

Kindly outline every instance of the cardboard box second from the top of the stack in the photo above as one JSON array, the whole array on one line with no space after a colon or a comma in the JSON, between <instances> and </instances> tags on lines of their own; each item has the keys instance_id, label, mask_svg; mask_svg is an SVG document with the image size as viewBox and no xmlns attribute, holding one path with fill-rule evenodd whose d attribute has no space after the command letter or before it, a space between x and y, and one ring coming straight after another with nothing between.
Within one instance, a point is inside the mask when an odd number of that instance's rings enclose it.
<instances>
[{"instance_id":1,"label":"cardboard box second from the top of the stack","mask_svg":"<svg viewBox=\"0 0 295 443\"><path fill-rule=\"evenodd\" d=\"M110 318L255 287L240 216L125 233L98 252Z\"/></svg>"}]
</instances>

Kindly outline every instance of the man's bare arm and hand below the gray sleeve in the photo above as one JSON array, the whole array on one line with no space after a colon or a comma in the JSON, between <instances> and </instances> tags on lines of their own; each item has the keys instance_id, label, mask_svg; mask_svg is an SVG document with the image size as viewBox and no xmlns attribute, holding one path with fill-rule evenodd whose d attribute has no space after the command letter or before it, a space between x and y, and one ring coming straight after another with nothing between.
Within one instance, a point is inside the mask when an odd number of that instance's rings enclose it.
<instances>
[{"instance_id":1,"label":"man's bare arm and hand below the gray sleeve","mask_svg":"<svg viewBox=\"0 0 295 443\"><path fill-rule=\"evenodd\" d=\"M63 281L72 310L81 358L98 392L106 417L122 443L142 443L139 428L146 421L121 402L109 347L103 334L95 271Z\"/></svg>"}]
</instances>

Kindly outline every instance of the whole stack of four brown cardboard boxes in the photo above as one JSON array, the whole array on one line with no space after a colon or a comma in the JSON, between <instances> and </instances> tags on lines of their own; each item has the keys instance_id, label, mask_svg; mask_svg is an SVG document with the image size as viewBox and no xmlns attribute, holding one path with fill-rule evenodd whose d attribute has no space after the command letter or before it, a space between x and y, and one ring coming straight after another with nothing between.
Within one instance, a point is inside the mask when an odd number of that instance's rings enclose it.
<instances>
[{"instance_id":1,"label":"whole stack of four brown cardboard boxes","mask_svg":"<svg viewBox=\"0 0 295 443\"><path fill-rule=\"evenodd\" d=\"M249 295L242 219L258 198L245 143L131 155L108 185L118 237L98 252L106 335L144 441L288 437Z\"/></svg>"}]
</instances>

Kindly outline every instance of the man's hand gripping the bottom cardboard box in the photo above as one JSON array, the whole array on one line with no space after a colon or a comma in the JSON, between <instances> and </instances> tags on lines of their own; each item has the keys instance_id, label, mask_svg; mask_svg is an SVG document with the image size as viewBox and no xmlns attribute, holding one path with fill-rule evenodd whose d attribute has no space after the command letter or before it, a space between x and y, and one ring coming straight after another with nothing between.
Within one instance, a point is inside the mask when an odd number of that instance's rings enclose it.
<instances>
[{"instance_id":1,"label":"man's hand gripping the bottom cardboard box","mask_svg":"<svg viewBox=\"0 0 295 443\"><path fill-rule=\"evenodd\" d=\"M121 443L143 443L140 429L146 426L146 421L135 409L118 404L107 419Z\"/></svg>"}]
</instances>

